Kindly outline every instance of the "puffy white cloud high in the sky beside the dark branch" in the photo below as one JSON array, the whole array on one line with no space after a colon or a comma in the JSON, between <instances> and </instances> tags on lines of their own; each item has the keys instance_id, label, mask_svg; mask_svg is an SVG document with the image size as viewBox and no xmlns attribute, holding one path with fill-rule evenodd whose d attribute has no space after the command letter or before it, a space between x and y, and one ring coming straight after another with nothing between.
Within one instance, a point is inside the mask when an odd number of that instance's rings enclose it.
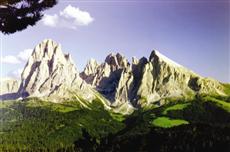
<instances>
[{"instance_id":1,"label":"puffy white cloud high in the sky beside the dark branch","mask_svg":"<svg viewBox=\"0 0 230 152\"><path fill-rule=\"evenodd\" d=\"M76 29L78 26L87 26L94 21L90 13L82 11L80 8L68 5L59 14L48 15L45 14L42 23L49 27L65 27Z\"/></svg>"}]
</instances>

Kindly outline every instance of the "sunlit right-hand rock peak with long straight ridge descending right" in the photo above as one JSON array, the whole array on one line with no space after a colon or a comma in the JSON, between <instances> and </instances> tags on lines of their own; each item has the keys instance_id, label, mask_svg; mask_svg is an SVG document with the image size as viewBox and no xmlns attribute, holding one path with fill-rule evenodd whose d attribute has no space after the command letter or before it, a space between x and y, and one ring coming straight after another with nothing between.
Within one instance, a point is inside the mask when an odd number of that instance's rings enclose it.
<instances>
[{"instance_id":1,"label":"sunlit right-hand rock peak with long straight ridge descending right","mask_svg":"<svg viewBox=\"0 0 230 152\"><path fill-rule=\"evenodd\" d=\"M137 96L145 97L147 102L169 97L188 97L197 93L222 93L219 82L199 76L158 51L151 53L141 82Z\"/></svg>"}]
</instances>

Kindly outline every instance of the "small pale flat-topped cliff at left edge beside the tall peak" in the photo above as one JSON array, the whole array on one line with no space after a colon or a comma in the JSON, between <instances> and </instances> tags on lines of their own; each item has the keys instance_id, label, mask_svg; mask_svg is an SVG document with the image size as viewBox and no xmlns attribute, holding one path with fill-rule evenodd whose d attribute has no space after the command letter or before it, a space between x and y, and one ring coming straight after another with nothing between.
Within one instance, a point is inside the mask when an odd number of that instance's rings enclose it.
<instances>
[{"instance_id":1,"label":"small pale flat-topped cliff at left edge beside the tall peak","mask_svg":"<svg viewBox=\"0 0 230 152\"><path fill-rule=\"evenodd\" d=\"M0 79L0 95L17 93L20 81L12 78Z\"/></svg>"}]
</instances>

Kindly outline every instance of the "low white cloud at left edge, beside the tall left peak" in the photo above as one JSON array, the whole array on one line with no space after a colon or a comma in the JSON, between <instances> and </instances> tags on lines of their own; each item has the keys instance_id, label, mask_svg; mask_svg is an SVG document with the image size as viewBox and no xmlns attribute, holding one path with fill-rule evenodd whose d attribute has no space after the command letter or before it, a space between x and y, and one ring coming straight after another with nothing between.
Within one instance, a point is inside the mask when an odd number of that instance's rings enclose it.
<instances>
[{"instance_id":1,"label":"low white cloud at left edge, beside the tall left peak","mask_svg":"<svg viewBox=\"0 0 230 152\"><path fill-rule=\"evenodd\" d=\"M0 59L1 63L5 64L21 64L26 62L32 53L32 49L25 49L19 52L16 56L7 55Z\"/></svg>"}]
</instances>

